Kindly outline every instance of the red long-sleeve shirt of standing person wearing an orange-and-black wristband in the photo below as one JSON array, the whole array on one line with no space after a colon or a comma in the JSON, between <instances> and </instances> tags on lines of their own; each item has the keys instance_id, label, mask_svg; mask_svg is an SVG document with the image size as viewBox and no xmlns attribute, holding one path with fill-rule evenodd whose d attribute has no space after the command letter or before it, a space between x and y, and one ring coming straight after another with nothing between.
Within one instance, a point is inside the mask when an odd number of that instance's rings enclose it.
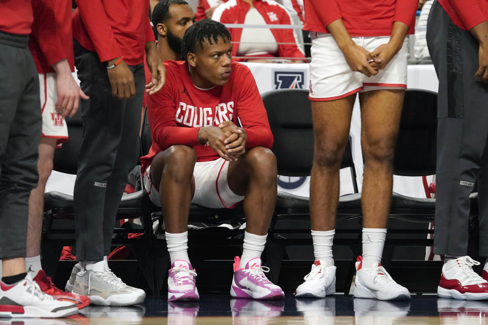
<instances>
[{"instance_id":1,"label":"red long-sleeve shirt of standing person wearing an orange-and-black wristband","mask_svg":"<svg viewBox=\"0 0 488 325\"><path fill-rule=\"evenodd\" d=\"M149 0L77 0L73 37L104 62L120 56L142 63L145 44L154 41L147 12Z\"/></svg>"}]
</instances>

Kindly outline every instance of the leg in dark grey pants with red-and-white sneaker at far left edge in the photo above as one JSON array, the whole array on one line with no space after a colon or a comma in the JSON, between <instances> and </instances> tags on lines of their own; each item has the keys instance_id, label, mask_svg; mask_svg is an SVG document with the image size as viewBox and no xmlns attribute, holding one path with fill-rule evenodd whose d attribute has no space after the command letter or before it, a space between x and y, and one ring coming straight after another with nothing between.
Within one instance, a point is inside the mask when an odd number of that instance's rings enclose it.
<instances>
[{"instance_id":1,"label":"leg in dark grey pants with red-and-white sneaker at far left edge","mask_svg":"<svg viewBox=\"0 0 488 325\"><path fill-rule=\"evenodd\" d=\"M77 313L76 305L45 295L25 272L28 200L38 181L41 136L39 80L27 41L0 32L0 70L7 77L0 77L0 317L63 317Z\"/></svg>"}]
</instances>

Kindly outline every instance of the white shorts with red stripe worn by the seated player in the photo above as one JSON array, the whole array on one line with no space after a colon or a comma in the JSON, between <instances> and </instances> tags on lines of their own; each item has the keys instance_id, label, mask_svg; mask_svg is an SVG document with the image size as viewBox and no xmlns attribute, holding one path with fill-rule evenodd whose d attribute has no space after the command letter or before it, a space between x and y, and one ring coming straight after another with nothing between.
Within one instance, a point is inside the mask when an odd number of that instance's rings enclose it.
<instances>
[{"instance_id":1,"label":"white shorts with red stripe worn by the seated player","mask_svg":"<svg viewBox=\"0 0 488 325\"><path fill-rule=\"evenodd\" d=\"M161 207L161 198L158 192L159 186L156 187L151 182L149 176L150 168L151 166L147 167L142 182L151 202ZM192 203L207 208L221 209L233 208L244 200L244 197L238 196L230 189L227 182L228 169L229 161L223 158L197 162L193 169L195 192L193 193Z\"/></svg>"}]
</instances>

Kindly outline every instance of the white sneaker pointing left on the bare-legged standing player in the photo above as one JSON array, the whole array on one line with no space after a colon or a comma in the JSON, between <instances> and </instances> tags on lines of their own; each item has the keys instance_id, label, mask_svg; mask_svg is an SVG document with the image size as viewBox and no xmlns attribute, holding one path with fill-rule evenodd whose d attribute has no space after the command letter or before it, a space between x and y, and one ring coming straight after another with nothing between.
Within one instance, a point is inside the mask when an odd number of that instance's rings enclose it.
<instances>
[{"instance_id":1,"label":"white sneaker pointing left on the bare-legged standing player","mask_svg":"<svg viewBox=\"0 0 488 325\"><path fill-rule=\"evenodd\" d=\"M312 271L307 274L295 291L297 298L324 298L335 294L335 266L327 266L320 259L312 264Z\"/></svg>"}]
</instances>

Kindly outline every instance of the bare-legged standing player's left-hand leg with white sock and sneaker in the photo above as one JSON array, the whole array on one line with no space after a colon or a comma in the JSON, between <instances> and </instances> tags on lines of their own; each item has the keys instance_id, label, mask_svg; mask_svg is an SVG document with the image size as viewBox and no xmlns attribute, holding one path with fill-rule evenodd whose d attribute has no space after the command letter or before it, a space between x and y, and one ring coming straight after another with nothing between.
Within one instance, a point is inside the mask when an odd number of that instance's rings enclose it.
<instances>
[{"instance_id":1,"label":"bare-legged standing player's left-hand leg with white sock and sneaker","mask_svg":"<svg viewBox=\"0 0 488 325\"><path fill-rule=\"evenodd\" d=\"M310 214L315 263L296 297L323 298L335 293L332 243L339 201L339 170L349 137L356 94L334 101L312 102L314 165L310 180Z\"/></svg>"}]
</instances>

